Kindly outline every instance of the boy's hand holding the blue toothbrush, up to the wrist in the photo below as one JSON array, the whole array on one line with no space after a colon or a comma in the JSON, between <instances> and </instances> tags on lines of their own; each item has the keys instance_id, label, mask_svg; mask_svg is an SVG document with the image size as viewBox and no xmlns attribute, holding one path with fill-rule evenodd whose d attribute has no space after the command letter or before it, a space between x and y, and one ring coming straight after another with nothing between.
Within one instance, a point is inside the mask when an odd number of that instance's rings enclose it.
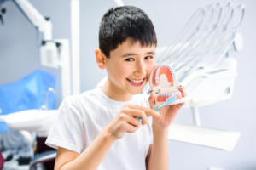
<instances>
[{"instance_id":1,"label":"boy's hand holding the blue toothbrush, up to the wrist","mask_svg":"<svg viewBox=\"0 0 256 170\"><path fill-rule=\"evenodd\" d=\"M134 133L141 126L141 124L148 123L148 116L155 118L160 116L157 111L139 106L139 105L125 105L112 122L108 124L108 133L114 139L121 139L125 133ZM142 122L138 118L142 118Z\"/></svg>"}]
</instances>

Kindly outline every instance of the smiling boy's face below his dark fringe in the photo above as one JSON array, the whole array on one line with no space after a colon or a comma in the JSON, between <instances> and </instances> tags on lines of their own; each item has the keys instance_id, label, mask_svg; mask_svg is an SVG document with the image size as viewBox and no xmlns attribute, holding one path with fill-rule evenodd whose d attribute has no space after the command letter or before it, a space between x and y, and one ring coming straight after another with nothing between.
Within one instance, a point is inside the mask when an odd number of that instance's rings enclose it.
<instances>
[{"instance_id":1,"label":"smiling boy's face below his dark fringe","mask_svg":"<svg viewBox=\"0 0 256 170\"><path fill-rule=\"evenodd\" d=\"M131 40L127 39L105 59L109 81L129 94L141 93L154 69L154 57L154 45L142 47L140 42L135 42L131 46Z\"/></svg>"}]
</instances>

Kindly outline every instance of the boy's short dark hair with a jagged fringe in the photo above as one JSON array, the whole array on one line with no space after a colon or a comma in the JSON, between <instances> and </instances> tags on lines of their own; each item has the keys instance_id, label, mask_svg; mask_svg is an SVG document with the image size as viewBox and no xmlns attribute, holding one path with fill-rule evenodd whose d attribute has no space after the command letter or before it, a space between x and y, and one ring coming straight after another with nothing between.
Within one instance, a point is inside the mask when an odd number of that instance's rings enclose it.
<instances>
[{"instance_id":1,"label":"boy's short dark hair with a jagged fringe","mask_svg":"<svg viewBox=\"0 0 256 170\"><path fill-rule=\"evenodd\" d=\"M143 47L157 44L154 26L142 9L123 6L111 8L102 17L99 42L102 53L109 58L110 51L131 38L131 45L139 41Z\"/></svg>"}]
</instances>

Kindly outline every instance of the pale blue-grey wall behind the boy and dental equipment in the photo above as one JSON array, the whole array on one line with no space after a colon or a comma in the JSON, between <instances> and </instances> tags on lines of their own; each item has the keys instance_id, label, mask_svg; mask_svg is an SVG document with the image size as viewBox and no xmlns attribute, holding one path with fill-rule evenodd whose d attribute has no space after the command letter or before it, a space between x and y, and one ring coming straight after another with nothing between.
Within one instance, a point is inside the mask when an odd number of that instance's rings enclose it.
<instances>
[{"instance_id":1,"label":"pale blue-grey wall behind the boy and dental equipment","mask_svg":"<svg viewBox=\"0 0 256 170\"><path fill-rule=\"evenodd\" d=\"M71 38L69 0L30 0L53 24L53 38ZM171 44L197 8L215 0L124 0L125 5L142 8L153 21L158 47ZM239 32L244 38L237 59L238 76L233 97L213 105L200 107L201 126L234 130L241 133L234 150L228 152L194 144L168 140L170 169L205 170L208 167L226 170L256 169L256 1L232 3L246 5L246 14ZM106 76L98 68L94 49L98 48L98 28L102 15L115 3L110 0L80 1L80 78L81 92L96 87ZM4 25L0 25L0 85L15 82L32 71L43 69L56 79L56 105L61 104L61 71L40 65L37 31L12 2L6 2ZM190 109L183 108L174 122L193 124Z\"/></svg>"}]
</instances>

